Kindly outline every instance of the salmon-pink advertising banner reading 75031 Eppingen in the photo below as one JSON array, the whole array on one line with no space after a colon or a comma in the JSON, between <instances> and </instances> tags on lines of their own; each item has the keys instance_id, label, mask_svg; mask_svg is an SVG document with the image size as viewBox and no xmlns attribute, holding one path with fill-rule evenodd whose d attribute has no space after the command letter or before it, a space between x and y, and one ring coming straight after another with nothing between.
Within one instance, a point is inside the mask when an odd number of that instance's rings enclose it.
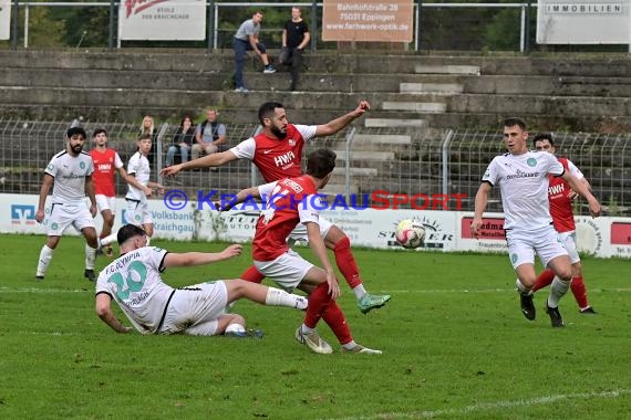
<instances>
[{"instance_id":1,"label":"salmon-pink advertising banner reading 75031 Eppingen","mask_svg":"<svg viewBox=\"0 0 631 420\"><path fill-rule=\"evenodd\" d=\"M412 42L412 0L324 0L323 41Z\"/></svg>"}]
</instances>

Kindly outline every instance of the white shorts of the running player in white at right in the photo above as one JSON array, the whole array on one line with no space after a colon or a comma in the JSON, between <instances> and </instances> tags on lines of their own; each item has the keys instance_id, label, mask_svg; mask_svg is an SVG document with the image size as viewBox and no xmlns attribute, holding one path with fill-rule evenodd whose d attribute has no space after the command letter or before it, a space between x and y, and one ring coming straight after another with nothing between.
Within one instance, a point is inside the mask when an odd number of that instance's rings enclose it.
<instances>
[{"instance_id":1,"label":"white shorts of the running player in white at right","mask_svg":"<svg viewBox=\"0 0 631 420\"><path fill-rule=\"evenodd\" d=\"M568 254L563 242L551 224L536 231L507 230L506 242L514 269L526 263L535 264L535 252L539 255L544 266L548 266L550 260Z\"/></svg>"}]
</instances>

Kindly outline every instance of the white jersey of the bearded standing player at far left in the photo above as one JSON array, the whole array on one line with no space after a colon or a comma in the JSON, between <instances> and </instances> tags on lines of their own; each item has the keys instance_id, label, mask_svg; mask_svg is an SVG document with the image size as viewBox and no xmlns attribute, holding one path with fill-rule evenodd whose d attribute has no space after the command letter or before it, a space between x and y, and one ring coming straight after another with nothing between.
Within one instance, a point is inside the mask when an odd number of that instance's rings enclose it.
<instances>
[{"instance_id":1,"label":"white jersey of the bearded standing player at far left","mask_svg":"<svg viewBox=\"0 0 631 420\"><path fill-rule=\"evenodd\" d=\"M60 151L49 162L44 172L54 178L53 203L79 204L85 202L85 178L94 172L92 157L82 151L71 156Z\"/></svg>"}]
</instances>

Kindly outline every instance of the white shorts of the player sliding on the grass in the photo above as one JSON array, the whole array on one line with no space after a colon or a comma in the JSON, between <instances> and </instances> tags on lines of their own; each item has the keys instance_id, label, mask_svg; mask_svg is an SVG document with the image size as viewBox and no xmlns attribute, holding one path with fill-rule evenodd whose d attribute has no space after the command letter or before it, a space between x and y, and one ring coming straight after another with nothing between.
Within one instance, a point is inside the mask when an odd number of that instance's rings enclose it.
<instances>
[{"instance_id":1,"label":"white shorts of the player sliding on the grass","mask_svg":"<svg viewBox=\"0 0 631 420\"><path fill-rule=\"evenodd\" d=\"M228 290L223 281L177 288L159 334L215 335L217 318L226 313Z\"/></svg>"}]
</instances>

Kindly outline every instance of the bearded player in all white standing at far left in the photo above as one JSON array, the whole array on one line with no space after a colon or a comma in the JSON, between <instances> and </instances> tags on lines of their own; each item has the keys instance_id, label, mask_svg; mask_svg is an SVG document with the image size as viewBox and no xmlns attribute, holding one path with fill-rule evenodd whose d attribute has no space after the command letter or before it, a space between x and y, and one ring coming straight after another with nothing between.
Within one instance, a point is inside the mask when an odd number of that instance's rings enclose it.
<instances>
[{"instance_id":1,"label":"bearded player in all white standing at far left","mask_svg":"<svg viewBox=\"0 0 631 420\"><path fill-rule=\"evenodd\" d=\"M96 258L96 229L94 216L96 214L96 198L92 172L94 165L92 157L83 150L85 130L72 127L66 133L65 150L60 151L50 160L44 169L44 178L40 189L40 200L35 220L46 228L46 243L40 251L40 260L35 279L41 281L49 269L53 252L59 244L61 235L69 225L81 231L85 238L85 271L83 275L90 281L95 280L94 259ZM44 207L49 191L52 187L51 210L44 221ZM90 198L87 208L85 195Z\"/></svg>"}]
</instances>

